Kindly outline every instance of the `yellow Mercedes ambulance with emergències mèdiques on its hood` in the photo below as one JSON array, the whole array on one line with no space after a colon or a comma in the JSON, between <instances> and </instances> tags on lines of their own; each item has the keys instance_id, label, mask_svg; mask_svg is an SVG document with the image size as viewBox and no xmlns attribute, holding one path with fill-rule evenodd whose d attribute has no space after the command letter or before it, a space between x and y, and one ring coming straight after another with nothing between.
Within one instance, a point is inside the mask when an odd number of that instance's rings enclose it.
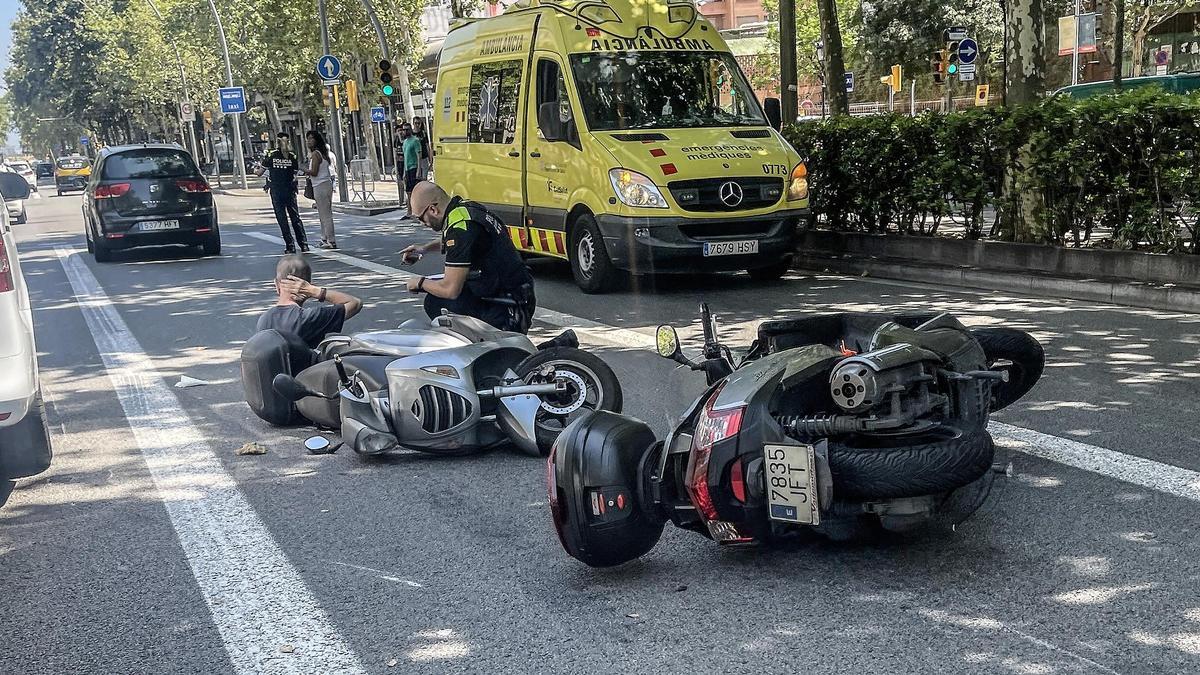
<instances>
[{"instance_id":1,"label":"yellow Mercedes ambulance with emerg\u00e8ncies m\u00e8diques on its hood","mask_svg":"<svg viewBox=\"0 0 1200 675\"><path fill-rule=\"evenodd\" d=\"M521 0L460 23L434 100L438 183L584 292L620 270L787 269L805 167L690 0Z\"/></svg>"}]
</instances>

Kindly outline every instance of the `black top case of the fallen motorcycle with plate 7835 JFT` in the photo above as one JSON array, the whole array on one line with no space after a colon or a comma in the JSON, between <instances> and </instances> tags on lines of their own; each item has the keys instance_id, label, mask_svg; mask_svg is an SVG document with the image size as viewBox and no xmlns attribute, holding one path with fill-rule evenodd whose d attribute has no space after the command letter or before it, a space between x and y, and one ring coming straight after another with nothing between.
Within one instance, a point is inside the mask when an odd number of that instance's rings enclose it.
<instances>
[{"instance_id":1,"label":"black top case of the fallen motorcycle with plate 7835 JFT","mask_svg":"<svg viewBox=\"0 0 1200 675\"><path fill-rule=\"evenodd\" d=\"M563 430L547 466L551 510L563 548L611 567L654 548L665 521L642 508L642 460L655 446L646 423L599 411Z\"/></svg>"}]
</instances>

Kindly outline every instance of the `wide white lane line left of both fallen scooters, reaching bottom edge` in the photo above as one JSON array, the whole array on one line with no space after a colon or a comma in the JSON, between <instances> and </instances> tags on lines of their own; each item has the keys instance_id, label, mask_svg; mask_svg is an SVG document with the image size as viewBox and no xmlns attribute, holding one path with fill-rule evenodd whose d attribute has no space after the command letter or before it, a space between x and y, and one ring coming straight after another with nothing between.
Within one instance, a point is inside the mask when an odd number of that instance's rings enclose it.
<instances>
[{"instance_id":1,"label":"wide white lane line left of both fallen scooters, reaching bottom edge","mask_svg":"<svg viewBox=\"0 0 1200 675\"><path fill-rule=\"evenodd\" d=\"M91 270L58 255L234 669L364 673Z\"/></svg>"}]
</instances>

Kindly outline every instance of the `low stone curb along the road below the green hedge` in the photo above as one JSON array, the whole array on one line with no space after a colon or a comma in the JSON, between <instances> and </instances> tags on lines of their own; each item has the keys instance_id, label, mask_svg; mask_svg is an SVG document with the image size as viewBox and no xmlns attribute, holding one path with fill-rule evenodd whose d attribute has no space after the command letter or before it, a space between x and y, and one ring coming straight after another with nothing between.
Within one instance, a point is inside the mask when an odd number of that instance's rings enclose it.
<instances>
[{"instance_id":1,"label":"low stone curb along the road below the green hedge","mask_svg":"<svg viewBox=\"0 0 1200 675\"><path fill-rule=\"evenodd\" d=\"M905 264L892 261L814 256L799 252L793 267L854 276L876 276L985 291L1009 291L1049 298L1092 300L1132 307L1200 313L1200 288L1170 283L1066 279L976 268Z\"/></svg>"}]
</instances>

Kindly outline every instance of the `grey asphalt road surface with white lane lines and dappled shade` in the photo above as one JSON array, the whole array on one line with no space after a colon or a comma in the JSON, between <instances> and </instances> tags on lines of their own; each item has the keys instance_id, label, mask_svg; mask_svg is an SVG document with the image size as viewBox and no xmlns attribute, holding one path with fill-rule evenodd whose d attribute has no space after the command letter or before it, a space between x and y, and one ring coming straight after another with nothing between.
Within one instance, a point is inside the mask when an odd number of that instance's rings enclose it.
<instances>
[{"instance_id":1,"label":"grey asphalt road surface with white lane lines and dappled shade","mask_svg":"<svg viewBox=\"0 0 1200 675\"><path fill-rule=\"evenodd\" d=\"M560 550L535 459L311 456L304 429L254 418L238 356L281 246L264 197L218 203L218 258L96 264L78 196L30 202L17 228L55 462L0 509L5 671L1200 670L1198 316L800 274L587 297L538 264L541 306L660 431L703 383L632 346L660 322L695 335L701 299L734 342L764 318L938 307L1030 329L1050 358L997 416L1028 441L1001 438L1015 476L955 532L727 550L668 528L594 571ZM313 257L365 298L356 328L420 311L388 268L428 237L396 220L338 216L349 257ZM268 453L236 455L248 441Z\"/></svg>"}]
</instances>

